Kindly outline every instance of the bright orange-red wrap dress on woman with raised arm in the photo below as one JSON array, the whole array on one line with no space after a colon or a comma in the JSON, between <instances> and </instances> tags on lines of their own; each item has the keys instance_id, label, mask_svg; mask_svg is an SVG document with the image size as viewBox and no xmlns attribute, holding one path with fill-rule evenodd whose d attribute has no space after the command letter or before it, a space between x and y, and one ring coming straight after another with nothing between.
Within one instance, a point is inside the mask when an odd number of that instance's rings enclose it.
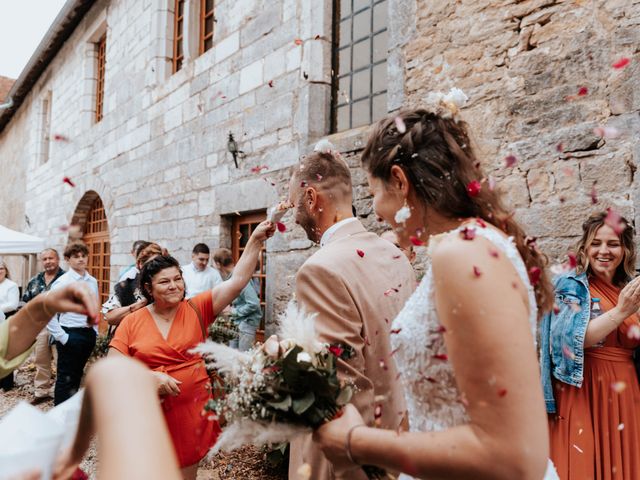
<instances>
[{"instance_id":1,"label":"bright orange-red wrap dress on woman with raised arm","mask_svg":"<svg viewBox=\"0 0 640 480\"><path fill-rule=\"evenodd\" d=\"M200 309L208 327L215 319L211 292L203 292L193 297L191 302ZM209 375L202 358L189 353L202 341L200 320L187 301L183 301L166 340L149 310L141 308L124 318L110 344L151 370L165 372L182 382L179 395L161 397L180 467L198 463L220 434L218 422L204 414L205 404L213 398Z\"/></svg>"}]
</instances>

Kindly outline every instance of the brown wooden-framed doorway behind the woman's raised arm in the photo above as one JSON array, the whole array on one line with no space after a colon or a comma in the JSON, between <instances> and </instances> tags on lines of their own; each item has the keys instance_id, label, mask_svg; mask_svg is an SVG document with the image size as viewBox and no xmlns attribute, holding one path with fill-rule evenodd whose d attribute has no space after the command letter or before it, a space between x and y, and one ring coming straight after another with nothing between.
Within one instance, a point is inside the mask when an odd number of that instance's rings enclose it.
<instances>
[{"instance_id":1,"label":"brown wooden-framed doorway behind the woman's raised arm","mask_svg":"<svg viewBox=\"0 0 640 480\"><path fill-rule=\"evenodd\" d=\"M244 247L246 247L249 237L255 230L255 228L266 219L264 212L251 213L248 215L242 215L240 217L233 217L231 224L231 253L233 255L233 261L236 263ZM266 242L265 242L266 243ZM266 289L267 289L267 249L265 244L262 244L262 251L260 252L260 258L256 265L256 270L251 278L251 281L258 291L260 297L260 306L262 307L262 320L260 321L260 327L256 333L256 340L264 341L264 314L266 309Z\"/></svg>"}]
</instances>

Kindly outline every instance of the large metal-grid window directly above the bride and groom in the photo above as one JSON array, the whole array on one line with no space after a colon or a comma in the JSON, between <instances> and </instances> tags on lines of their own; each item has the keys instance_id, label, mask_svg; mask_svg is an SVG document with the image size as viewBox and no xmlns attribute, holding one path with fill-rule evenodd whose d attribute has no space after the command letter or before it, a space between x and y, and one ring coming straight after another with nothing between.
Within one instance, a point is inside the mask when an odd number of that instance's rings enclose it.
<instances>
[{"instance_id":1,"label":"large metal-grid window directly above the bride and groom","mask_svg":"<svg viewBox=\"0 0 640 480\"><path fill-rule=\"evenodd\" d=\"M332 131L387 114L388 0L334 0Z\"/></svg>"}]
</instances>

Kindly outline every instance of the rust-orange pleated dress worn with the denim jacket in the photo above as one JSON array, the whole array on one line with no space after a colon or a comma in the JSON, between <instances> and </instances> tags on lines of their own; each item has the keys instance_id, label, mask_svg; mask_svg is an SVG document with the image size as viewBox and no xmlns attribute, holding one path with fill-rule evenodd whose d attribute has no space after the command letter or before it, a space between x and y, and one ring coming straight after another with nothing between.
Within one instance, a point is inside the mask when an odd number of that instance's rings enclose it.
<instances>
[{"instance_id":1,"label":"rust-orange pleated dress worn with the denim jacket","mask_svg":"<svg viewBox=\"0 0 640 480\"><path fill-rule=\"evenodd\" d=\"M595 277L589 291L603 312L618 303L620 289ZM640 479L640 386L632 360L640 341L628 336L639 322L632 315L604 346L585 349L581 388L553 380L550 456L561 480Z\"/></svg>"}]
</instances>

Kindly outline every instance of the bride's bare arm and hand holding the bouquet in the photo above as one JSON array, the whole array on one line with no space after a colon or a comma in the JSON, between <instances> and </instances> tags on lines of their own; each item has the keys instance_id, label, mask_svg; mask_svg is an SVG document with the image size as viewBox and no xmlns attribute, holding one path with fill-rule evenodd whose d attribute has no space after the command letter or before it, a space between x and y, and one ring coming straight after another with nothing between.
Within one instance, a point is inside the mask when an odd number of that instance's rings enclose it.
<instances>
[{"instance_id":1,"label":"bride's bare arm and hand holding the bouquet","mask_svg":"<svg viewBox=\"0 0 640 480\"><path fill-rule=\"evenodd\" d=\"M362 426L351 435L355 460L421 478L543 478L547 423L527 294L510 261L489 255L490 247L483 238L446 239L432 257L436 308L446 329L448 360L442 361L453 365L469 423L400 434ZM346 432L359 423L350 407L320 428L316 437L334 463L348 463Z\"/></svg>"}]
</instances>

